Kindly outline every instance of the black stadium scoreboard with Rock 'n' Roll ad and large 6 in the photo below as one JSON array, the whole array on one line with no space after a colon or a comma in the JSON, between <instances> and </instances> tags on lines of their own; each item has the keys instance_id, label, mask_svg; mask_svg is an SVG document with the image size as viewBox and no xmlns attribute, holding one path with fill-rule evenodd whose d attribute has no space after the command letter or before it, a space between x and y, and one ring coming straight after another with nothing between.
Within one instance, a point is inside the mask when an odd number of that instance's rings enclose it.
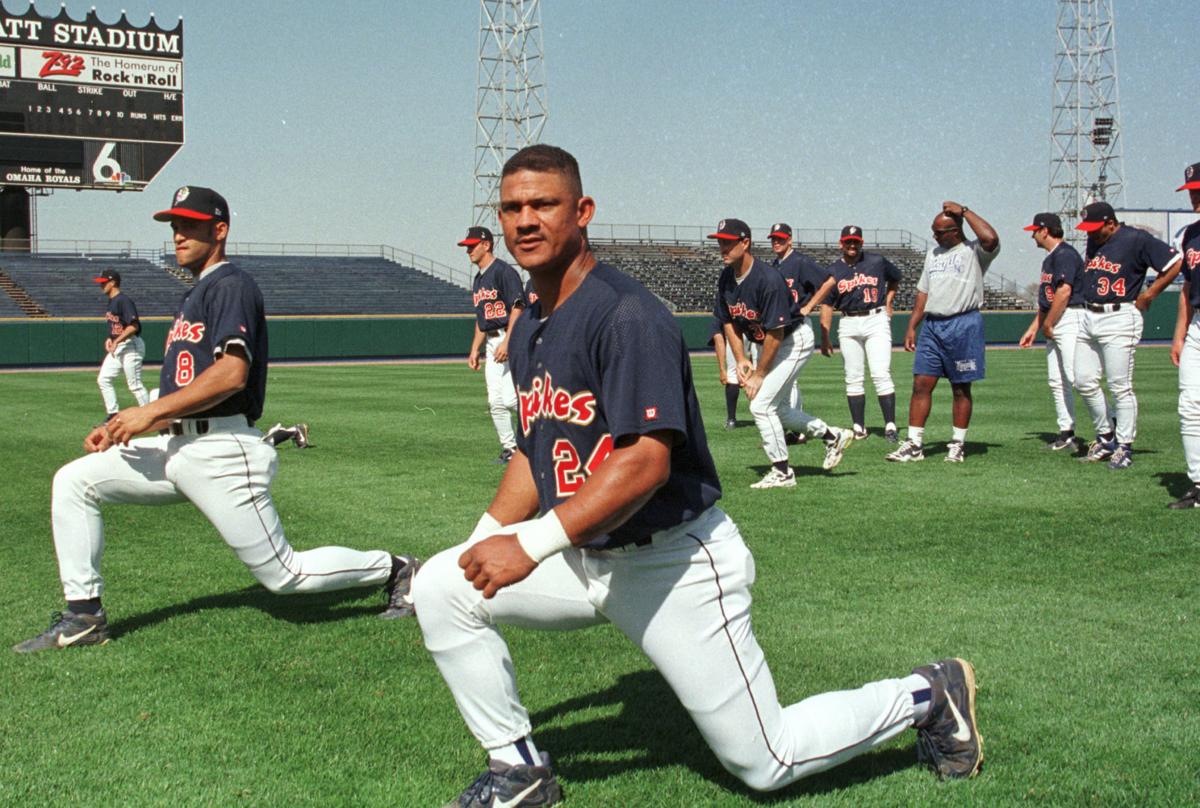
<instances>
[{"instance_id":1,"label":"black stadium scoreboard with Rock 'n' Roll ad and large 6","mask_svg":"<svg viewBox=\"0 0 1200 808\"><path fill-rule=\"evenodd\" d=\"M140 191L182 144L182 22L0 0L0 185Z\"/></svg>"}]
</instances>

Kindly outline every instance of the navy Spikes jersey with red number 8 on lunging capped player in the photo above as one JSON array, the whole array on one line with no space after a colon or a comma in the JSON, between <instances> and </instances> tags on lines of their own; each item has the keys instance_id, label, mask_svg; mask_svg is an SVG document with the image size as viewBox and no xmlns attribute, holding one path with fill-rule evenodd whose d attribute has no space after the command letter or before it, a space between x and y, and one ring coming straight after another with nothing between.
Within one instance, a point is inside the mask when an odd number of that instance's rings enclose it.
<instances>
[{"instance_id":1,"label":"navy Spikes jersey with red number 8 on lunging capped player","mask_svg":"<svg viewBox=\"0 0 1200 808\"><path fill-rule=\"evenodd\" d=\"M163 348L162 373L158 377L161 395L169 395L187 387L212 366L217 352L226 342L245 343L250 354L250 375L246 387L224 401L188 418L220 418L246 415L251 423L263 414L266 399L266 316L263 313L263 293L247 273L233 264L206 269L184 295L175 322L167 333Z\"/></svg>"}]
</instances>

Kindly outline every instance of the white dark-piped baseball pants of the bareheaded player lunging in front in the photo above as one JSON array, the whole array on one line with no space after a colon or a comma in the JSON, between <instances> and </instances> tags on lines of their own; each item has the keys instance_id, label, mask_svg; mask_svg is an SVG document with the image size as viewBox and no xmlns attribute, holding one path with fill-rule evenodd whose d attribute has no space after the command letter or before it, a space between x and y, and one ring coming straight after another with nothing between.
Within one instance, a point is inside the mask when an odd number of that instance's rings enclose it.
<instances>
[{"instance_id":1,"label":"white dark-piped baseball pants of the bareheaded player lunging in front","mask_svg":"<svg viewBox=\"0 0 1200 808\"><path fill-rule=\"evenodd\" d=\"M467 546L427 561L413 598L425 646L486 749L532 732L497 624L569 630L611 622L662 674L721 765L752 789L782 788L912 726L913 699L901 680L779 704L750 626L754 557L718 508L642 547L568 549L491 600L458 568Z\"/></svg>"}]
</instances>

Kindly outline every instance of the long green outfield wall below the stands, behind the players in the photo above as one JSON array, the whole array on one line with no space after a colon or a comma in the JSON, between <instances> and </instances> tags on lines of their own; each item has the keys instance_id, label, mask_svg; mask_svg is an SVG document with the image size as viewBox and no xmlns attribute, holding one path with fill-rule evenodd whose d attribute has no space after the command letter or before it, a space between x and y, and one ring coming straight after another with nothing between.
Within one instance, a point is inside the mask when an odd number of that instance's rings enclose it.
<instances>
[{"instance_id":1,"label":"long green outfield wall below the stands, behind the players","mask_svg":"<svg viewBox=\"0 0 1200 808\"><path fill-rule=\"evenodd\" d=\"M1146 315L1144 339L1169 340L1175 329L1178 295L1166 292ZM1015 343L1032 321L1031 312L985 312L989 345ZM678 315L688 346L704 348L708 315ZM816 317L812 318L817 327ZM906 312L892 318L895 345L904 340ZM146 361L162 360L170 322L143 321ZM466 355L473 334L469 317L276 317L270 318L272 359L414 359ZM98 365L107 323L101 319L0 319L0 367ZM836 335L836 323L834 328ZM834 340L836 345L836 340Z\"/></svg>"}]
</instances>

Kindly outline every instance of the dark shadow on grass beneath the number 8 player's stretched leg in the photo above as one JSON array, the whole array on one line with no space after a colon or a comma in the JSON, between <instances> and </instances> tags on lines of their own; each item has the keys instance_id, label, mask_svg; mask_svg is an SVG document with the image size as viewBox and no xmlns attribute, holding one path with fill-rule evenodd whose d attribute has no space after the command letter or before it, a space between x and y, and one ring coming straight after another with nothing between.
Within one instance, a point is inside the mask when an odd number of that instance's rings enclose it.
<instances>
[{"instance_id":1,"label":"dark shadow on grass beneath the number 8 player's stretched leg","mask_svg":"<svg viewBox=\"0 0 1200 808\"><path fill-rule=\"evenodd\" d=\"M378 591L378 587L374 591ZM134 615L112 623L112 632L114 638L120 638L143 628L157 626L172 617L209 609L258 609L276 620L289 623L328 623L383 611L384 604L382 601L373 605L347 605L349 601L361 600L367 593L368 588L355 588L316 594L271 594L256 585L234 592L206 594L186 603L176 603Z\"/></svg>"}]
</instances>

